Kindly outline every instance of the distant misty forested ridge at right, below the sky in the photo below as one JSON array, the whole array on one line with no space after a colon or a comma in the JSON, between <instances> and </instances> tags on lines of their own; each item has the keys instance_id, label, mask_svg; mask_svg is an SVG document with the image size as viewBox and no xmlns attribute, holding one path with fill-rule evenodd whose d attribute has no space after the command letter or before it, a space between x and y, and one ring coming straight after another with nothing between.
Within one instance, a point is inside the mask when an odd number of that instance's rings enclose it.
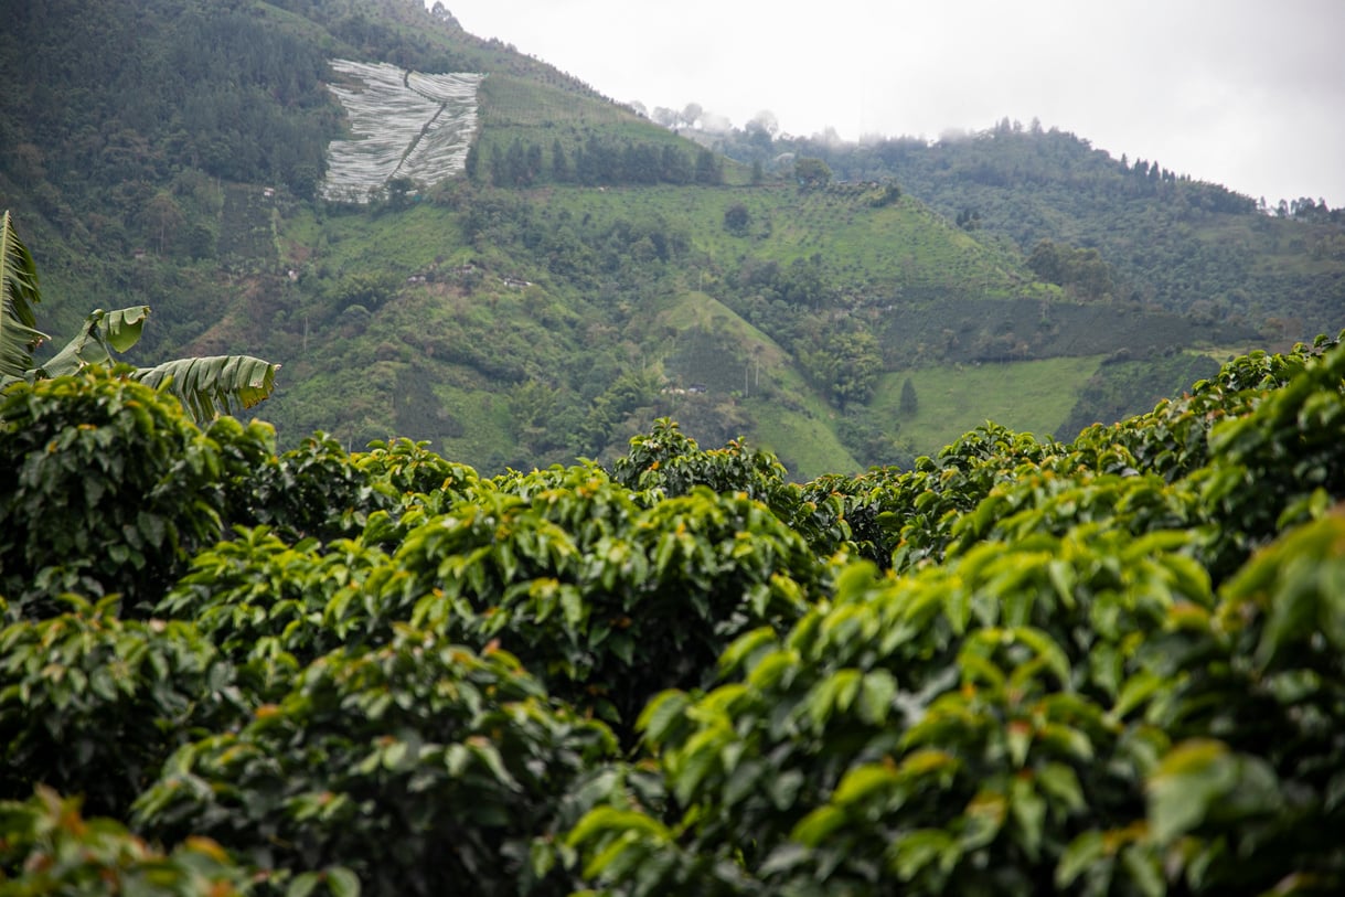
<instances>
[{"instance_id":1,"label":"distant misty forested ridge at right, below the sky","mask_svg":"<svg viewBox=\"0 0 1345 897\"><path fill-rule=\"evenodd\" d=\"M760 128L703 140L745 163L795 153L823 159L837 178L894 179L1077 293L1202 323L1276 319L1271 329L1289 339L1337 327L1345 309L1345 210L1310 196L1268 204L1038 122L1006 118L932 143L772 139Z\"/></svg>"}]
</instances>

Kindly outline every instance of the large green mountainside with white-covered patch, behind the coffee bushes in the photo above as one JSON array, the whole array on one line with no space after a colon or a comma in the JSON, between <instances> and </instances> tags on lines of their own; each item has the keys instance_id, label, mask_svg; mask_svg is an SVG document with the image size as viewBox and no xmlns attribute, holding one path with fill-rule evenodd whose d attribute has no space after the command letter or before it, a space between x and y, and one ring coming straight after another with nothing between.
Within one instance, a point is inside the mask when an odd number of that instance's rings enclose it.
<instances>
[{"instance_id":1,"label":"large green mountainside with white-covered patch, behind the coffee bushes","mask_svg":"<svg viewBox=\"0 0 1345 897\"><path fill-rule=\"evenodd\" d=\"M964 422L1068 437L1338 316L1330 289L1294 319L1274 292L1307 289L1299 222L1271 222L1280 256L1250 238L1241 293L1169 301L1069 227L994 235L1073 214L1059 191L1036 218L986 200L975 229L888 163L831 152L835 178L799 183L414 0L124 7L24 7L0 35L0 206L38 257L43 325L147 303L141 355L280 362L261 413L286 444L397 434L494 471L611 459L671 414L807 479L908 464ZM1332 245L1309 250L1326 286ZM1044 398L1006 401L1024 395Z\"/></svg>"}]
</instances>

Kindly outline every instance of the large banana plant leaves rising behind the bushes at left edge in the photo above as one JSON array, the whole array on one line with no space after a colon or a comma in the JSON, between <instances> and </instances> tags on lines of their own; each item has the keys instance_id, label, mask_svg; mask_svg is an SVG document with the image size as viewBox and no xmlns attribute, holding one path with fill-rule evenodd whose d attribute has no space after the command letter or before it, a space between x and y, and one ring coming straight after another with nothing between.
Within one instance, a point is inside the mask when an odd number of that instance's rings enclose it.
<instances>
[{"instance_id":1,"label":"large banana plant leaves rising behind the bushes at left edge","mask_svg":"<svg viewBox=\"0 0 1345 897\"><path fill-rule=\"evenodd\" d=\"M36 328L34 307L42 301L38 266L13 227L0 218L0 389L74 374L87 364L112 364L114 355L140 340L148 305L95 309L79 332L44 363L34 352L50 339ZM178 397L198 424L252 407L276 389L280 364L250 355L210 355L136 368L132 377Z\"/></svg>"}]
</instances>

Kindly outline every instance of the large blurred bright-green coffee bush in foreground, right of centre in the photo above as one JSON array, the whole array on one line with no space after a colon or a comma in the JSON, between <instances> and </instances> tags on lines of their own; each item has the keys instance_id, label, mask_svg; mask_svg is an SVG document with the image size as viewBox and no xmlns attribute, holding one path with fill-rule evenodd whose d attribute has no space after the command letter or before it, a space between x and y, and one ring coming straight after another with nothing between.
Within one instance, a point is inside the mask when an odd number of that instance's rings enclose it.
<instances>
[{"instance_id":1,"label":"large blurred bright-green coffee bush in foreground, right of centre","mask_svg":"<svg viewBox=\"0 0 1345 897\"><path fill-rule=\"evenodd\" d=\"M1143 814L1166 744L1124 721L1145 639L1182 602L1213 604L1180 545L1085 529L900 578L853 566L785 636L734 643L724 685L646 709L674 826L594 811L572 843L631 893L713 893L725 863L742 892L1049 890L1089 824ZM636 867L682 874L681 851L710 877L628 888Z\"/></svg>"}]
</instances>

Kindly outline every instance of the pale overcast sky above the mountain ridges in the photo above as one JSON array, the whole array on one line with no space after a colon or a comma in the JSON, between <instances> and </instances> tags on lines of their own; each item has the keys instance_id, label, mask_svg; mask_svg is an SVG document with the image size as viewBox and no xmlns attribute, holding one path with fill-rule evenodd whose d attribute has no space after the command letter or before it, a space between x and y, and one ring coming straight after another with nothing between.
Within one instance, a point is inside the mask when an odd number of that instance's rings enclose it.
<instances>
[{"instance_id":1,"label":"pale overcast sky above the mountain ridges","mask_svg":"<svg viewBox=\"0 0 1345 897\"><path fill-rule=\"evenodd\" d=\"M1345 206L1342 0L444 0L623 102L794 134L1009 117L1251 196Z\"/></svg>"}]
</instances>

